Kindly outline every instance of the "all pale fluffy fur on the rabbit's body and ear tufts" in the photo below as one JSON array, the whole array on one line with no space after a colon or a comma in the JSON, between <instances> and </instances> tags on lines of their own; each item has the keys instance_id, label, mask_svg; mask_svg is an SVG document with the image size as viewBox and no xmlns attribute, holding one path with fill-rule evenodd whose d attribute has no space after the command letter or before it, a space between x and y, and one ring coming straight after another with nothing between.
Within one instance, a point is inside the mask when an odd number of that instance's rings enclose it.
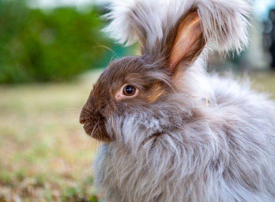
<instances>
[{"instance_id":1,"label":"all pale fluffy fur on the rabbit's body and ear tufts","mask_svg":"<svg viewBox=\"0 0 275 202\"><path fill-rule=\"evenodd\" d=\"M116 1L105 31L130 44L143 34L142 25L153 45L165 35L163 26L192 7L210 47L240 52L247 44L245 0ZM204 59L183 75L182 85L192 87L169 103L106 122L116 141L104 145L95 162L106 201L275 201L274 104L248 85L207 76Z\"/></svg>"}]
</instances>

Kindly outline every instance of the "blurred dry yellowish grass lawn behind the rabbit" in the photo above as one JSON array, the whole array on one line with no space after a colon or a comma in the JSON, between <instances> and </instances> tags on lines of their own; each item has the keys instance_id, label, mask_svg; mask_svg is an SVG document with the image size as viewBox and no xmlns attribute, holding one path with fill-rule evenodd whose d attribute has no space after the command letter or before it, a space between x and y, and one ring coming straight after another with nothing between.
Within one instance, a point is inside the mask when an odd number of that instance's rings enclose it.
<instances>
[{"instance_id":1,"label":"blurred dry yellowish grass lawn behind the rabbit","mask_svg":"<svg viewBox=\"0 0 275 202\"><path fill-rule=\"evenodd\" d=\"M70 84L0 86L0 201L99 201L91 168L99 144L78 123L99 73ZM275 98L274 73L251 80Z\"/></svg>"}]
</instances>

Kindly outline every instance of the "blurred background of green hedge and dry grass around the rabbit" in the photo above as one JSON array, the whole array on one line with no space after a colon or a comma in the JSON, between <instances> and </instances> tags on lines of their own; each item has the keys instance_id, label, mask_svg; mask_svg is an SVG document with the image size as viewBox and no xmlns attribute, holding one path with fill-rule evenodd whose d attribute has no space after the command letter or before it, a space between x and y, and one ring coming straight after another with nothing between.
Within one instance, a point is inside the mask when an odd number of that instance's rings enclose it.
<instances>
[{"instance_id":1,"label":"blurred background of green hedge and dry grass around the rabbit","mask_svg":"<svg viewBox=\"0 0 275 202\"><path fill-rule=\"evenodd\" d=\"M99 143L78 123L107 64L133 55L100 30L108 0L0 0L0 201L100 201ZM247 51L209 70L275 98L275 2L255 0Z\"/></svg>"}]
</instances>

